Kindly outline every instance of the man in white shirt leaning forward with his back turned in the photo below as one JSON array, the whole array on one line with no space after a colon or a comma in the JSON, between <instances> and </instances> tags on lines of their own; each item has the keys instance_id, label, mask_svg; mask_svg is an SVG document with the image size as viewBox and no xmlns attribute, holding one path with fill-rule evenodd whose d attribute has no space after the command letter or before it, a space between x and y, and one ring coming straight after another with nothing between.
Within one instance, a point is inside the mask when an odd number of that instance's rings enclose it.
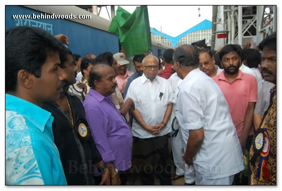
<instances>
[{"instance_id":1,"label":"man in white shirt leaning forward with his back turned","mask_svg":"<svg viewBox=\"0 0 282 191\"><path fill-rule=\"evenodd\" d=\"M187 140L185 163L195 166L196 185L230 185L244 164L224 95L198 68L198 53L192 45L178 46L173 61L174 70L183 79L176 116Z\"/></svg>"}]
</instances>

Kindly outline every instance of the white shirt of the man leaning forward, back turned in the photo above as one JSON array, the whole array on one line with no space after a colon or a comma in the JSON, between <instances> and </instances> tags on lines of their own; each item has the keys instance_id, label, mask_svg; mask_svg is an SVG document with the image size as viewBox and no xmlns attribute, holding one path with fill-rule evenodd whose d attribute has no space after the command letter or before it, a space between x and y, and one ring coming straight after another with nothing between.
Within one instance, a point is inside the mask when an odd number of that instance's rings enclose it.
<instances>
[{"instance_id":1,"label":"white shirt of the man leaning forward, back turned","mask_svg":"<svg viewBox=\"0 0 282 191\"><path fill-rule=\"evenodd\" d=\"M193 157L196 178L222 178L243 170L240 142L220 87L199 68L190 71L179 87L176 116L184 139L189 130L204 130L204 141Z\"/></svg>"}]
</instances>

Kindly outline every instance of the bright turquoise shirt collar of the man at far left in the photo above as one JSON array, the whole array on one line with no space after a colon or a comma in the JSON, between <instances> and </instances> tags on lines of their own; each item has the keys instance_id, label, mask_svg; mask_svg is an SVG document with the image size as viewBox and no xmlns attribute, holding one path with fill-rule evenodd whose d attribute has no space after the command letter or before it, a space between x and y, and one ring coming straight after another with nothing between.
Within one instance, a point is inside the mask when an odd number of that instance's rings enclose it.
<instances>
[{"instance_id":1,"label":"bright turquoise shirt collar of the man at far left","mask_svg":"<svg viewBox=\"0 0 282 191\"><path fill-rule=\"evenodd\" d=\"M6 93L6 109L13 110L30 120L42 132L47 123L52 126L54 117L51 112L26 101L20 97Z\"/></svg>"}]
</instances>

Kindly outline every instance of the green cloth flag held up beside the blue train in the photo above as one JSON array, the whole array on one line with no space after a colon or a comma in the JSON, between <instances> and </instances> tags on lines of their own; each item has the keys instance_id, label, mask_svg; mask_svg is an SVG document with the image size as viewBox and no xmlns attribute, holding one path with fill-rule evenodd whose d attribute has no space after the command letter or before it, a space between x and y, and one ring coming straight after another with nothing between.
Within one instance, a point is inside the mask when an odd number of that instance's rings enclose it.
<instances>
[{"instance_id":1,"label":"green cloth flag held up beside the blue train","mask_svg":"<svg viewBox=\"0 0 282 191\"><path fill-rule=\"evenodd\" d=\"M119 35L120 43L128 56L151 50L150 23L146 5L137 6L132 14L118 6L109 31Z\"/></svg>"}]
</instances>

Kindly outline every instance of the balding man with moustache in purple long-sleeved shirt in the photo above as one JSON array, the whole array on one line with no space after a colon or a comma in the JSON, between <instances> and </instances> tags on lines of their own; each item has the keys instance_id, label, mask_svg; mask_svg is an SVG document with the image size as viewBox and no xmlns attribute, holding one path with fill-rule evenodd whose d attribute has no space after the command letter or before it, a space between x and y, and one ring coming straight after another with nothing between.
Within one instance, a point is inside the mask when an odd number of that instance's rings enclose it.
<instances>
[{"instance_id":1,"label":"balding man with moustache in purple long-sleeved shirt","mask_svg":"<svg viewBox=\"0 0 282 191\"><path fill-rule=\"evenodd\" d=\"M112 185L125 184L126 170L131 167L132 133L112 99L117 86L115 71L109 65L97 64L88 82L91 89L83 102L86 119L103 161L108 164Z\"/></svg>"}]
</instances>

